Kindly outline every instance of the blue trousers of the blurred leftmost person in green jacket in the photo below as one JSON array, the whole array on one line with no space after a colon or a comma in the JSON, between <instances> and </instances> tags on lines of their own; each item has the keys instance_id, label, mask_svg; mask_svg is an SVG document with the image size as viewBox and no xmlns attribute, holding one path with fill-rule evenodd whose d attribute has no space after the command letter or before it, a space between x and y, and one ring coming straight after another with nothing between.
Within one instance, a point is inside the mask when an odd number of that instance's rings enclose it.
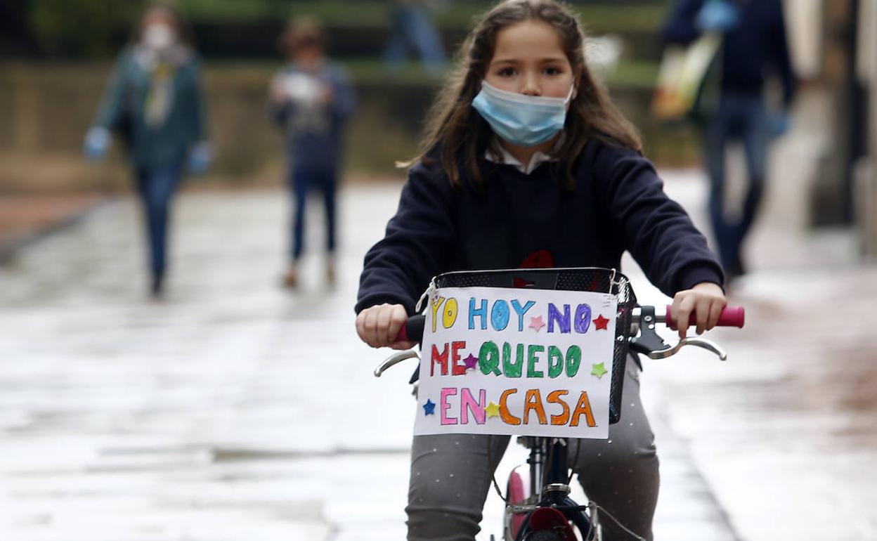
<instances>
[{"instance_id":1,"label":"blue trousers of the blurred leftmost person in green jacket","mask_svg":"<svg viewBox=\"0 0 877 541\"><path fill-rule=\"evenodd\" d=\"M170 200L180 183L181 175L182 160L175 160L165 166L143 168L137 171L137 188L146 217L146 234L149 238L150 267L153 279L160 279L164 276L167 267Z\"/></svg>"}]
</instances>

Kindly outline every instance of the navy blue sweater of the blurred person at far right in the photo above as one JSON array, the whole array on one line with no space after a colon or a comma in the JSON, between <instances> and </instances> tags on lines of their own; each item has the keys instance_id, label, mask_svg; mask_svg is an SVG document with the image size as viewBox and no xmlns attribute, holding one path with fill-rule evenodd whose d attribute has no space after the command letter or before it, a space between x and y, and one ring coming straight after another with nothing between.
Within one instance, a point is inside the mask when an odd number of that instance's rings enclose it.
<instances>
[{"instance_id":1,"label":"navy blue sweater of the blurred person at far right","mask_svg":"<svg viewBox=\"0 0 877 541\"><path fill-rule=\"evenodd\" d=\"M698 36L697 13L704 0L680 0L664 28L668 43L687 45ZM730 0L740 11L738 25L725 35L722 49L722 88L760 94L766 75L779 77L786 105L795 94L795 77L788 55L781 0Z\"/></svg>"}]
</instances>

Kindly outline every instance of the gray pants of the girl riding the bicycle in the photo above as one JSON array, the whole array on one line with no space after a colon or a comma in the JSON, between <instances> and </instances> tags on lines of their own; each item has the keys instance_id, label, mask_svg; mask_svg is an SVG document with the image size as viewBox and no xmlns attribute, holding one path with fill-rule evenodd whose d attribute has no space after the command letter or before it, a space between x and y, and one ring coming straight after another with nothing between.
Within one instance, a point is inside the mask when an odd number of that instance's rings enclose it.
<instances>
[{"instance_id":1,"label":"gray pants of the girl riding the bicycle","mask_svg":"<svg viewBox=\"0 0 877 541\"><path fill-rule=\"evenodd\" d=\"M569 460L590 500L651 540L652 516L658 501L658 456L652 429L639 402L638 370L636 363L628 359L621 420L610 425L609 439L571 440ZM488 445L493 461L490 464ZM508 445L508 436L415 436L405 508L408 539L472 541L481 530L481 509L491 476ZM574 464L577 445L578 460ZM504 480L497 482L504 485ZM631 538L611 519L604 516L601 523L604 539Z\"/></svg>"}]
</instances>

